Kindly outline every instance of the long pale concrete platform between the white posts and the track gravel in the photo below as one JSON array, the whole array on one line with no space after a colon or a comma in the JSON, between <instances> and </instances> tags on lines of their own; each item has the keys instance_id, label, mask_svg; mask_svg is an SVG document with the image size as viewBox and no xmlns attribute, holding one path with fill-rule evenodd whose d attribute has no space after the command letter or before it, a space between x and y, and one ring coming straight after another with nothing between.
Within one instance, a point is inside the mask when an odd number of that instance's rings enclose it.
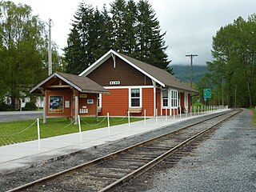
<instances>
[{"instance_id":1,"label":"long pale concrete platform between the white posts and the track gravel","mask_svg":"<svg viewBox=\"0 0 256 192\"><path fill-rule=\"evenodd\" d=\"M221 113L229 109L207 111L204 114L187 114L158 118L149 118L146 121L131 122L118 126L110 126L96 130L83 131L79 133L65 134L53 138L44 138L38 141L22 142L8 146L0 146L0 173L9 172L16 168L41 165L48 161L77 153L90 147L117 142L122 138L133 137L149 131L162 129L178 122L188 121L191 118L203 115Z\"/></svg>"}]
</instances>

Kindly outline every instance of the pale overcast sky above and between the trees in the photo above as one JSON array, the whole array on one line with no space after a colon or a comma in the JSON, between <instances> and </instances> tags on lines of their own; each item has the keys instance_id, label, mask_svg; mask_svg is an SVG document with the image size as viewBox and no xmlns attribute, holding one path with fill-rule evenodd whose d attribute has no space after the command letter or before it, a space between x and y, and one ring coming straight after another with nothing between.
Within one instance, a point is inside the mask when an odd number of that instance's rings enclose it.
<instances>
[{"instance_id":1,"label":"pale overcast sky above and between the trees","mask_svg":"<svg viewBox=\"0 0 256 192\"><path fill-rule=\"evenodd\" d=\"M13 0L32 7L34 14L48 22L51 18L52 40L59 48L66 46L70 23L78 10L79 2L98 6L108 6L114 0ZM135 2L138 2L135 0ZM247 19L256 12L255 0L149 0L162 32L166 31L166 53L172 60L171 65L190 65L186 54L198 54L194 65L205 65L211 60L211 42L221 26L226 26L238 16ZM106 50L107 51L107 50Z\"/></svg>"}]
</instances>

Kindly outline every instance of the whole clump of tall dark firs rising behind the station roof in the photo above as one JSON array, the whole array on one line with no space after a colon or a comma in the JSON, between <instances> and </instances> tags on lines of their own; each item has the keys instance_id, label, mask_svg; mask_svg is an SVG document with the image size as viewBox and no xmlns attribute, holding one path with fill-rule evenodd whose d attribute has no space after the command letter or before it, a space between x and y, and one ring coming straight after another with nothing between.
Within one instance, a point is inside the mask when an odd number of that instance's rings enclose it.
<instances>
[{"instance_id":1,"label":"whole clump of tall dark firs rising behind the station roof","mask_svg":"<svg viewBox=\"0 0 256 192\"><path fill-rule=\"evenodd\" d=\"M65 48L66 72L79 74L113 49L172 73L164 36L150 3L114 0L110 11L81 3Z\"/></svg>"}]
</instances>

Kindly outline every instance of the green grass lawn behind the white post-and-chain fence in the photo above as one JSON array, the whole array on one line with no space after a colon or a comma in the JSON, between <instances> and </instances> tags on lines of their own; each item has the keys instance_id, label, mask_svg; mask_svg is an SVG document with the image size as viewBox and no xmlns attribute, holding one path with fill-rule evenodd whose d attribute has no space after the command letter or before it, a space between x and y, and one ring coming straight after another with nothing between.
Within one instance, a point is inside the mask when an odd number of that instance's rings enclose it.
<instances>
[{"instance_id":1,"label":"green grass lawn behind the white post-and-chain fence","mask_svg":"<svg viewBox=\"0 0 256 192\"><path fill-rule=\"evenodd\" d=\"M130 122L141 121L143 118L130 118ZM18 142L27 142L38 139L37 123L34 120L1 122L0 123L0 146L6 146ZM99 123L101 122L101 123ZM31 124L34 123L33 126ZM128 118L110 118L110 126L128 123ZM50 138L62 134L72 134L78 132L78 125L70 124L66 118L50 118L46 124L40 120L41 138ZM107 118L81 118L81 129L94 130L107 126Z\"/></svg>"}]
</instances>

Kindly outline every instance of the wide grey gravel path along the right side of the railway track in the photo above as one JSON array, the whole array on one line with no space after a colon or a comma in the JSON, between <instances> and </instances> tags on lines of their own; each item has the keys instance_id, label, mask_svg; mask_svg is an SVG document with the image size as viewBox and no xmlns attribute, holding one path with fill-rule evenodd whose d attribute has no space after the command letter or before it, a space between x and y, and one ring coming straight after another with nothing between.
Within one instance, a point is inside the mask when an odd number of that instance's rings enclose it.
<instances>
[{"instance_id":1,"label":"wide grey gravel path along the right side of the railway track","mask_svg":"<svg viewBox=\"0 0 256 192\"><path fill-rule=\"evenodd\" d=\"M172 169L157 167L130 185L122 191L256 191L256 128L250 110L223 123Z\"/></svg>"}]
</instances>

